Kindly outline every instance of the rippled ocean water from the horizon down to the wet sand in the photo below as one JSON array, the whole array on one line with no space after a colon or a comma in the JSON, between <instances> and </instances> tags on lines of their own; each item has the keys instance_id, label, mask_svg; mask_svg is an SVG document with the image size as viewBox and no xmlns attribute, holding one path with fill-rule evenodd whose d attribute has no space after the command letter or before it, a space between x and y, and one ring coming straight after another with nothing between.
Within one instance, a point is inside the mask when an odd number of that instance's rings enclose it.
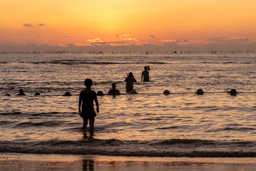
<instances>
[{"instance_id":1,"label":"rippled ocean water from the horizon down to the wet sand","mask_svg":"<svg viewBox=\"0 0 256 171\"><path fill-rule=\"evenodd\" d=\"M256 157L256 53L7 53L0 67L0 153ZM125 92L129 72L138 94ZM93 136L78 115L86 78L121 92L98 96Z\"/></svg>"}]
</instances>

